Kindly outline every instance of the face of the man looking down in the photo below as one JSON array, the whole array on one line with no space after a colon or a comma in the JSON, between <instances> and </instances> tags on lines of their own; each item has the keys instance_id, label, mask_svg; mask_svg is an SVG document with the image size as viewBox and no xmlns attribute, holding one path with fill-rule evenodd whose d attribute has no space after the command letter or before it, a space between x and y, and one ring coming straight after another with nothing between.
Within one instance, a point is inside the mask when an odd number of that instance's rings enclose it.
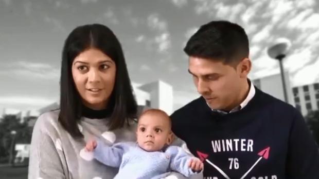
<instances>
[{"instance_id":1,"label":"face of the man looking down","mask_svg":"<svg viewBox=\"0 0 319 179\"><path fill-rule=\"evenodd\" d=\"M189 57L189 73L210 108L229 111L235 107L243 83L238 66L234 68L216 59Z\"/></svg>"}]
</instances>

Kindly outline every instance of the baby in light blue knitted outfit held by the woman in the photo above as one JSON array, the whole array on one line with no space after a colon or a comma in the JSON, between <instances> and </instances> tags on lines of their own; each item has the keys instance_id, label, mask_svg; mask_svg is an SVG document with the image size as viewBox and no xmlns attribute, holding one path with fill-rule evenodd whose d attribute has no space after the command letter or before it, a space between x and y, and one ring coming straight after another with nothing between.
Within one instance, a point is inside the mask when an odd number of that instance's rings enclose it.
<instances>
[{"instance_id":1,"label":"baby in light blue knitted outfit held by the woman","mask_svg":"<svg viewBox=\"0 0 319 179\"><path fill-rule=\"evenodd\" d=\"M162 110L150 109L141 114L136 131L137 143L126 142L107 146L101 141L86 143L87 151L94 151L99 162L119 167L115 179L163 178L176 171L186 177L203 169L199 158L187 154L172 142L171 121Z\"/></svg>"}]
</instances>

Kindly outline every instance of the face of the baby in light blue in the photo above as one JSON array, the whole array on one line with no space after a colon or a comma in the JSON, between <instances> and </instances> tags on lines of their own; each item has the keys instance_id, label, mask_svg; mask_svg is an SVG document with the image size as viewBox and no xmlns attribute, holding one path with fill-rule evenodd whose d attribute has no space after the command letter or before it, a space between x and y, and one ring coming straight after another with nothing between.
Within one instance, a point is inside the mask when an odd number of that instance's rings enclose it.
<instances>
[{"instance_id":1,"label":"face of the baby in light blue","mask_svg":"<svg viewBox=\"0 0 319 179\"><path fill-rule=\"evenodd\" d=\"M145 114L138 121L136 134L139 147L149 152L161 150L171 140L169 119Z\"/></svg>"}]
</instances>

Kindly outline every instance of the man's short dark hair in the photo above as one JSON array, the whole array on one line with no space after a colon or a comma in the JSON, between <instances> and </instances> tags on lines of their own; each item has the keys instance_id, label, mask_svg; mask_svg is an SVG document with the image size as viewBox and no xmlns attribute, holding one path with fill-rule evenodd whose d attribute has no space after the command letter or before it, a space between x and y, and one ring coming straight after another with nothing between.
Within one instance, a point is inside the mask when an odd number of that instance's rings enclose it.
<instances>
[{"instance_id":1,"label":"man's short dark hair","mask_svg":"<svg viewBox=\"0 0 319 179\"><path fill-rule=\"evenodd\" d=\"M238 64L242 58L249 57L249 42L241 26L228 21L212 21L190 37L184 51L188 56Z\"/></svg>"}]
</instances>

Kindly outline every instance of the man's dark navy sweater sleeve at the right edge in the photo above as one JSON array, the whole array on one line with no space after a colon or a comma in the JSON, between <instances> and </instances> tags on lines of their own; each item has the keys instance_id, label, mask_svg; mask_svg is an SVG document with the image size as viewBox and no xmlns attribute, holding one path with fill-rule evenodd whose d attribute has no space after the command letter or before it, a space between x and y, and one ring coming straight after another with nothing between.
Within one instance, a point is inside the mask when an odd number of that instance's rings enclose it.
<instances>
[{"instance_id":1,"label":"man's dark navy sweater sleeve at the right edge","mask_svg":"<svg viewBox=\"0 0 319 179\"><path fill-rule=\"evenodd\" d=\"M288 178L319 178L318 147L299 112L292 122L288 147Z\"/></svg>"}]
</instances>

